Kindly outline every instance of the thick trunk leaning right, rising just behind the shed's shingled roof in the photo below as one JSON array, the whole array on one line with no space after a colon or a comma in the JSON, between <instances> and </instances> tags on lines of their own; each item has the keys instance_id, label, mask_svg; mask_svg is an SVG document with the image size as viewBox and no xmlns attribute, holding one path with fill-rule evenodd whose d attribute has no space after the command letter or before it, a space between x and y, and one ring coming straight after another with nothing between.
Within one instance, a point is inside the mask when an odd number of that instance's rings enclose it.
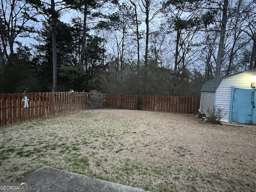
<instances>
[{"instance_id":1,"label":"thick trunk leaning right, rising just behind the shed's shingled roof","mask_svg":"<svg viewBox=\"0 0 256 192\"><path fill-rule=\"evenodd\" d=\"M220 77L220 69L221 69L223 52L224 52L226 23L227 23L227 17L228 17L227 10L228 10L228 0L224 0L224 5L222 9L221 27L220 27L220 41L219 41L218 55L217 55L217 61L216 61L215 78Z\"/></svg>"}]
</instances>

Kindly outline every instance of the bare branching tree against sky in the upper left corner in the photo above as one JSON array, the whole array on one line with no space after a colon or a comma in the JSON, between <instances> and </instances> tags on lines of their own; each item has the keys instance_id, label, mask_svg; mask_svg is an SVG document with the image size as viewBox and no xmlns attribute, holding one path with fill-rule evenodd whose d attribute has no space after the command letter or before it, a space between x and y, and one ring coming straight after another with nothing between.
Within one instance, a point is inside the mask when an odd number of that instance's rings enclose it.
<instances>
[{"instance_id":1,"label":"bare branching tree against sky in the upper left corner","mask_svg":"<svg viewBox=\"0 0 256 192\"><path fill-rule=\"evenodd\" d=\"M0 0L0 48L5 58L14 54L17 38L31 36L37 15L26 0Z\"/></svg>"}]
</instances>

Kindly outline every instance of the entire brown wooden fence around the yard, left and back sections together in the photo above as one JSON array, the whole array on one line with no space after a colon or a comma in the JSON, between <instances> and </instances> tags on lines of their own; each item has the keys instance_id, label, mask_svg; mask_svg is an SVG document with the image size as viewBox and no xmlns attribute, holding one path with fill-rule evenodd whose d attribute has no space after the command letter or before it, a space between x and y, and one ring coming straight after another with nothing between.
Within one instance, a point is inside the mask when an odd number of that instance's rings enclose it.
<instances>
[{"instance_id":1,"label":"entire brown wooden fence around the yard, left and back sections together","mask_svg":"<svg viewBox=\"0 0 256 192\"><path fill-rule=\"evenodd\" d=\"M25 107L25 96L29 99ZM191 113L197 112L200 98L104 94L105 107ZM86 92L42 92L0 94L0 126L89 109Z\"/></svg>"}]
</instances>

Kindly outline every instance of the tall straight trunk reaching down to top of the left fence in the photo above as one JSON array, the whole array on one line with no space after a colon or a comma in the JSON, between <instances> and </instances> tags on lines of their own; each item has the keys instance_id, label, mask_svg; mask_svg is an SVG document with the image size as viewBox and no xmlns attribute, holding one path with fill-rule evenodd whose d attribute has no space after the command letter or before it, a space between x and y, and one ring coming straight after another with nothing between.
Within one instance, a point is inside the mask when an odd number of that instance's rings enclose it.
<instances>
[{"instance_id":1,"label":"tall straight trunk reaching down to top of the left fence","mask_svg":"<svg viewBox=\"0 0 256 192\"><path fill-rule=\"evenodd\" d=\"M51 10L52 10L52 77L53 77L53 90L57 89L57 42L56 42L56 16L55 16L55 2L51 0Z\"/></svg>"}]
</instances>

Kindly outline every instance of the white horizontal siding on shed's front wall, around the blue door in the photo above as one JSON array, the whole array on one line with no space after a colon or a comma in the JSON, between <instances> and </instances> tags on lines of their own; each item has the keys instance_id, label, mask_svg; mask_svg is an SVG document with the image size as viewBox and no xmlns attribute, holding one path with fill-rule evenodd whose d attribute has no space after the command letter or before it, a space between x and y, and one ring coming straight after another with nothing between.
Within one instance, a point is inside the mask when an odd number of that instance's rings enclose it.
<instances>
[{"instance_id":1,"label":"white horizontal siding on shed's front wall, around the blue door","mask_svg":"<svg viewBox=\"0 0 256 192\"><path fill-rule=\"evenodd\" d=\"M228 122L230 115L230 103L231 103L231 94L232 86L251 88L250 78L255 74L256 71L243 72L237 75L232 75L222 79L222 82L216 89L216 108L221 108L224 117L221 121Z\"/></svg>"}]
</instances>

